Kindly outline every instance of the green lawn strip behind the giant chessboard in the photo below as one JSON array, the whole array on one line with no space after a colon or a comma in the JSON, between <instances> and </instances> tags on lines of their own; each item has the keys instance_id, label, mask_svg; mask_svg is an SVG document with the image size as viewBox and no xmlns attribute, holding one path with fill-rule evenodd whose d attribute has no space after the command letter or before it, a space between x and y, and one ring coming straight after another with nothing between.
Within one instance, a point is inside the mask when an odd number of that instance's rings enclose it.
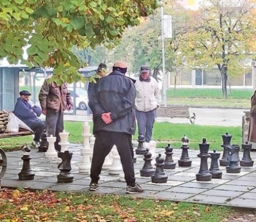
<instances>
[{"instance_id":1,"label":"green lawn strip behind the giant chessboard","mask_svg":"<svg viewBox=\"0 0 256 222\"><path fill-rule=\"evenodd\" d=\"M82 143L82 122L65 122L65 130L70 133L70 143ZM92 130L92 129L91 129ZM242 129L240 127L219 127L191 124L155 123L153 139L157 140L157 147L166 147L171 143L174 148L180 148L180 140L184 134L190 139L190 148L199 149L198 143L206 137L210 143L210 150L222 150L221 134L228 132L233 135L232 143L242 143ZM134 139L137 139L137 132ZM0 148L4 150L18 149L24 143L30 144L32 137L17 137L0 140Z\"/></svg>"}]
</instances>

